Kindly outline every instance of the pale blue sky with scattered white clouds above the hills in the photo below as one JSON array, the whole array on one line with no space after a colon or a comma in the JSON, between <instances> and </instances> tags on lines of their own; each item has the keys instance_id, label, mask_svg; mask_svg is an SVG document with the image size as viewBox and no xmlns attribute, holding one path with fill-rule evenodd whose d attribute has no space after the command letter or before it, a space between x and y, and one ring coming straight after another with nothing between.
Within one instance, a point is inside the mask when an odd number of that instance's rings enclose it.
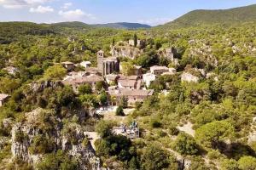
<instances>
[{"instance_id":1,"label":"pale blue sky with scattered white clouds above the hills","mask_svg":"<svg viewBox=\"0 0 256 170\"><path fill-rule=\"evenodd\" d=\"M256 0L0 0L0 21L125 21L156 26L194 9L236 8L255 3Z\"/></svg>"}]
</instances>

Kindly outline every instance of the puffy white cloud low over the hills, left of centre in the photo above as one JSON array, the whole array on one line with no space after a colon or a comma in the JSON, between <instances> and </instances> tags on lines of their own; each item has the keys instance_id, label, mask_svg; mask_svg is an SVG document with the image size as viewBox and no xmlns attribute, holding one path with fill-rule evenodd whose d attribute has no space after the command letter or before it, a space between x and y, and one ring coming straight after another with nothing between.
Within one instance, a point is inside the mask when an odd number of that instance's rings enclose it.
<instances>
[{"instance_id":1,"label":"puffy white cloud low over the hills, left of centre","mask_svg":"<svg viewBox=\"0 0 256 170\"><path fill-rule=\"evenodd\" d=\"M84 17L89 19L96 19L92 14L86 14L81 9L69 10L69 11L59 11L59 14L66 20L81 20Z\"/></svg>"}]
</instances>

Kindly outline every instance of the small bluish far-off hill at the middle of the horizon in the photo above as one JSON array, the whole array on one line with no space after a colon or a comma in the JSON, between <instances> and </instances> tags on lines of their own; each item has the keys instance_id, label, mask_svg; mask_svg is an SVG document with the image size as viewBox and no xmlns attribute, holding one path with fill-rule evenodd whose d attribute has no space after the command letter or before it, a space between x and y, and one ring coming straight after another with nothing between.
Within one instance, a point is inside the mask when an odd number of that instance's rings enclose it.
<instances>
[{"instance_id":1,"label":"small bluish far-off hill at the middle of the horizon","mask_svg":"<svg viewBox=\"0 0 256 170\"><path fill-rule=\"evenodd\" d=\"M92 25L96 27L107 27L107 28L116 28L116 29L139 29L139 28L151 28L151 26L140 24L140 23L129 23L129 22L116 22L116 23L108 23L108 24L96 24Z\"/></svg>"}]
</instances>

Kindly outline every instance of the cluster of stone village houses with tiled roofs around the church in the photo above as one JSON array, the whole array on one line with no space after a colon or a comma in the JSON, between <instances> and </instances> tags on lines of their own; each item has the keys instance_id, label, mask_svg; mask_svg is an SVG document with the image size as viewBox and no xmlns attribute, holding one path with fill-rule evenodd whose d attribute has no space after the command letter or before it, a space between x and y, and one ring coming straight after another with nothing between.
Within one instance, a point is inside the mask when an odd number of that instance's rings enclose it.
<instances>
[{"instance_id":1,"label":"cluster of stone village houses with tiled roofs around the church","mask_svg":"<svg viewBox=\"0 0 256 170\"><path fill-rule=\"evenodd\" d=\"M132 45L132 40L129 41L129 45ZM138 40L137 44L140 44ZM177 65L177 58L174 57L174 48L167 48L161 51L161 55L170 59L172 63ZM70 85L75 92L78 92L78 88L83 84L90 84L91 88L95 90L96 82L108 83L108 94L115 99L113 105L118 105L120 99L125 96L128 99L129 105L134 105L136 102L143 102L149 96L154 94L154 90L147 89L151 82L161 75L173 75L176 74L176 69L167 68L166 66L154 65L150 67L150 71L143 74L142 66L134 65L134 73L132 76L125 76L120 74L122 72L122 66L119 62L119 56L112 53L112 57L105 57L102 50L97 52L97 67L91 67L90 61L83 61L79 63L84 67L85 71L75 72L74 69L77 65L73 62L62 62L68 73L62 82L66 85ZM5 68L9 74L15 74L18 69L9 66ZM183 72L181 77L182 81L198 82L199 77L195 77L188 72ZM0 106L9 99L8 94L0 94Z\"/></svg>"}]
</instances>

